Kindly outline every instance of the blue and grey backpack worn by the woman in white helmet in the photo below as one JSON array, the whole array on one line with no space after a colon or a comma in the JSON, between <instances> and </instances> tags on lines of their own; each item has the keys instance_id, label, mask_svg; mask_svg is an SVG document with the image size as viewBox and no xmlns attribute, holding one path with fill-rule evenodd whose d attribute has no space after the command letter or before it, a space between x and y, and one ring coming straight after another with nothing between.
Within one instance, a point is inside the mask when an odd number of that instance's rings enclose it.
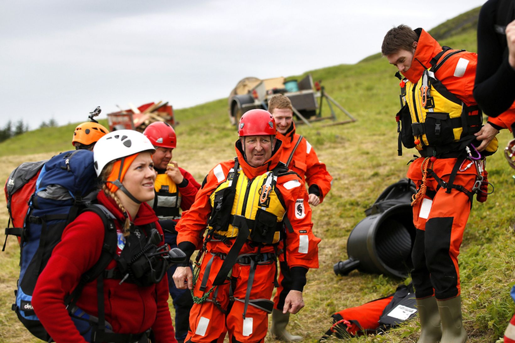
<instances>
[{"instance_id":1,"label":"blue and grey backpack worn by the woman in white helmet","mask_svg":"<svg viewBox=\"0 0 515 343\"><path fill-rule=\"evenodd\" d=\"M107 232L111 231L114 233L111 241L116 241L114 224L112 220L108 219L112 215L101 205L91 205L91 201L96 198L97 194L95 179L92 151L72 150L54 156L43 165L36 181L36 191L30 196L30 199L27 199L29 209L25 216L23 228L16 233L6 231L6 234L19 235L21 249L20 278L18 288L15 290L16 302L12 305L12 310L16 312L25 327L40 339L51 340L33 311L32 293L54 247L61 240L66 225L72 222L82 211L93 211L104 221L106 226L105 240L108 239ZM107 263L111 261L111 253L115 249L116 246L113 245L110 253L102 252L102 254L109 254L104 258ZM103 261L102 258L97 265L101 261ZM93 268L95 270L89 272L89 275L87 273L83 279L95 279L97 275L93 275L93 273L100 273L104 268L105 266ZM80 295L84 284L85 282L79 284L72 293L75 298ZM68 297L65 302L71 304L74 300L76 299ZM73 318L73 313L71 315ZM83 314L77 317L83 318L84 316L87 315ZM91 327L87 320L74 320L74 322L76 322L81 333L84 330L80 328L78 323L84 323L86 328ZM89 338L85 332L84 338Z\"/></svg>"}]
</instances>

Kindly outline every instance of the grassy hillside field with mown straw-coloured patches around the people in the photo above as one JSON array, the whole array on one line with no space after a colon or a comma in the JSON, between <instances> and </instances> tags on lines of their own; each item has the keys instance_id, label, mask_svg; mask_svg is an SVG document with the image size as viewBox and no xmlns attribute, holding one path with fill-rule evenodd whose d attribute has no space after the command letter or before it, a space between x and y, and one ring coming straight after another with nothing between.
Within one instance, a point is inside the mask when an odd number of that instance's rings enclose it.
<instances>
[{"instance_id":1,"label":"grassy hillside field with mown straw-coloured patches around the people","mask_svg":"<svg viewBox=\"0 0 515 343\"><path fill-rule=\"evenodd\" d=\"M443 25L451 24L452 21ZM444 28L440 31L447 32ZM441 43L475 51L474 29L458 32ZM323 127L328 123L322 122L313 128L298 127L298 132L315 147L319 159L325 162L334 178L331 192L313 211L314 232L322 238L320 268L308 273L304 291L306 307L291 316L289 325L291 332L304 335L306 341L321 337L331 324L331 314L388 295L399 283L409 282L359 271L336 277L332 269L335 262L347 259L347 237L365 217L364 210L386 186L404 177L406 163L415 152L405 149L403 157L397 156L394 116L399 106L399 90L394 72L379 55L354 65L309 72L314 80L322 80L327 92L358 121L341 126ZM324 106L328 110L327 105ZM229 125L227 99L177 110L175 115L180 125L176 127L178 147L174 158L199 182L216 163L234 157L236 131ZM337 115L338 120L346 119L342 113ZM70 149L73 128L74 125L45 128L1 143L0 180L6 180L21 162L49 158ZM495 185L495 193L485 203L474 202L459 256L464 323L472 343L494 342L502 336L514 307L509 297L509 290L515 284L514 173L502 152L509 139L509 132L501 132L501 151L488 159L489 181ZM0 202L0 221L7 224L5 199ZM19 249L11 237L6 251L0 253L3 266L0 269L0 341L36 342L38 340L31 338L10 310L18 259ZM384 335L350 341L415 342L418 335L418 322L412 320ZM266 341L274 340L267 337Z\"/></svg>"}]
</instances>

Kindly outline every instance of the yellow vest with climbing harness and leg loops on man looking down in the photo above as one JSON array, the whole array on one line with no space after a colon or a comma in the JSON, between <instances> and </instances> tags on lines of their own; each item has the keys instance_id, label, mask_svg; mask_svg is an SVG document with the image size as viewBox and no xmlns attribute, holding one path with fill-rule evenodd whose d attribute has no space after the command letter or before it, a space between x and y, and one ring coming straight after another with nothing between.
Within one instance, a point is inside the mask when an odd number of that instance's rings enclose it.
<instances>
[{"instance_id":1,"label":"yellow vest with climbing harness and leg loops on man looking down","mask_svg":"<svg viewBox=\"0 0 515 343\"><path fill-rule=\"evenodd\" d=\"M413 196L412 206L421 201L426 194L428 176L438 182L438 187L445 188L446 193L456 189L467 194L471 206L474 194L477 194L478 201L483 202L486 201L488 194L493 193L488 192L488 185L491 183L487 180L485 159L472 144L475 141L474 133L482 127L483 114L477 105L465 105L435 76L445 61L464 51L443 46L442 51L430 61L431 67L424 70L416 83L402 78L400 72L396 73L401 80L401 110L396 115L399 133L398 155L402 156L404 145L406 148L417 148L420 156L425 158L422 163L422 184ZM465 68L466 65L457 65L455 74L465 73ZM492 145L495 144L492 141ZM470 147L475 150L477 156L472 155ZM486 155L496 151L496 147L489 148L490 146L485 151ZM440 178L431 168L436 158L457 159L448 181ZM464 163L467 163L467 167L462 169ZM454 184L454 179L458 170L464 171L472 164L475 164L477 176L472 190L469 191L464 186Z\"/></svg>"}]
</instances>

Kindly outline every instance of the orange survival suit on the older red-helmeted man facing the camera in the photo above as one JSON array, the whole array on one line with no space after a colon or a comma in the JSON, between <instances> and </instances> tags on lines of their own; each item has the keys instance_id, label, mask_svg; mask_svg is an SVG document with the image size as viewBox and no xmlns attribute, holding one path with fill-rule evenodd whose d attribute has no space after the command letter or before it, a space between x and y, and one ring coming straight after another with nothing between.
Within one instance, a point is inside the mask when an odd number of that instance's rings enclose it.
<instances>
[{"instance_id":1,"label":"orange survival suit on the older red-helmeted man facing the camera","mask_svg":"<svg viewBox=\"0 0 515 343\"><path fill-rule=\"evenodd\" d=\"M320 239L312 232L311 209L302 180L284 166L277 173L281 144L276 140L271 158L260 167L252 167L245 161L238 140L237 159L210 170L194 204L182 214L177 225L179 248L191 255L196 248L205 247L194 286L196 303L190 312L186 341L212 342L226 331L232 342L263 341L268 327L267 314L273 306L268 299L277 275L277 254L286 256L294 275L291 289L302 291L308 268L318 268ZM238 167L234 168L236 163ZM263 186L273 179L272 170L277 179L261 203L257 199L263 194L260 192ZM226 192L233 181L232 199ZM224 197L231 200L224 203ZM220 217L229 217L231 224L221 227L213 220ZM207 224L210 231L204 239ZM244 228L251 232L248 238L243 236L242 242L239 233ZM254 235L265 231L269 240ZM279 242L284 243L283 252L278 251ZM224 262L231 259L234 247L237 258L232 267L229 264L228 277Z\"/></svg>"}]
</instances>

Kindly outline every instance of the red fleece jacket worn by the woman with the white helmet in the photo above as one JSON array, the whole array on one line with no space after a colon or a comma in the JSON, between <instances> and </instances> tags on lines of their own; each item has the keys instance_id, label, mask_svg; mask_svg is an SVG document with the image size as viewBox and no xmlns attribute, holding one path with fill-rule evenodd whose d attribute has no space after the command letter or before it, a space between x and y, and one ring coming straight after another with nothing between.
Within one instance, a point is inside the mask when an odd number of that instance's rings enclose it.
<instances>
[{"instance_id":1,"label":"red fleece jacket worn by the woman with the white helmet","mask_svg":"<svg viewBox=\"0 0 515 343\"><path fill-rule=\"evenodd\" d=\"M116 203L104 192L100 192L97 199L116 217L115 225L121 229L124 216ZM135 226L156 222L162 234L157 220L152 209L142 203L133 222ZM85 342L68 315L63 299L77 286L82 274L98 261L104 232L104 223L97 214L80 214L64 229L61 242L55 247L36 283L32 306L56 342ZM115 265L113 260L108 269ZM166 278L148 287L127 282L120 285L116 279L104 280L104 299L106 320L115 333L137 334L152 328L156 342L177 342L168 310ZM90 315L98 316L96 280L84 286L77 306Z\"/></svg>"}]
</instances>

